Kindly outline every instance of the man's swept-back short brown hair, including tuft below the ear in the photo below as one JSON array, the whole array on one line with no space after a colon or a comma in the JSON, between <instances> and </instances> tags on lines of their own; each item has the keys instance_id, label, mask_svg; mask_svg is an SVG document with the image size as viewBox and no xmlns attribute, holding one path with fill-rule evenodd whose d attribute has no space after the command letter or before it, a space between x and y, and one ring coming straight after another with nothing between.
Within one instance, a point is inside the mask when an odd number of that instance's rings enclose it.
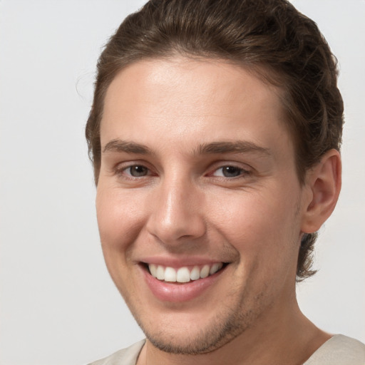
<instances>
[{"instance_id":1,"label":"man's swept-back short brown hair, including tuft below the ear","mask_svg":"<svg viewBox=\"0 0 365 365\"><path fill-rule=\"evenodd\" d=\"M231 61L282 89L300 183L327 150L340 149L344 106L336 86L336 58L314 21L286 0L150 0L123 21L98 60L86 125L96 184L103 101L110 82L133 62L175 54ZM311 233L302 238L298 280L315 272L316 237Z\"/></svg>"}]
</instances>

